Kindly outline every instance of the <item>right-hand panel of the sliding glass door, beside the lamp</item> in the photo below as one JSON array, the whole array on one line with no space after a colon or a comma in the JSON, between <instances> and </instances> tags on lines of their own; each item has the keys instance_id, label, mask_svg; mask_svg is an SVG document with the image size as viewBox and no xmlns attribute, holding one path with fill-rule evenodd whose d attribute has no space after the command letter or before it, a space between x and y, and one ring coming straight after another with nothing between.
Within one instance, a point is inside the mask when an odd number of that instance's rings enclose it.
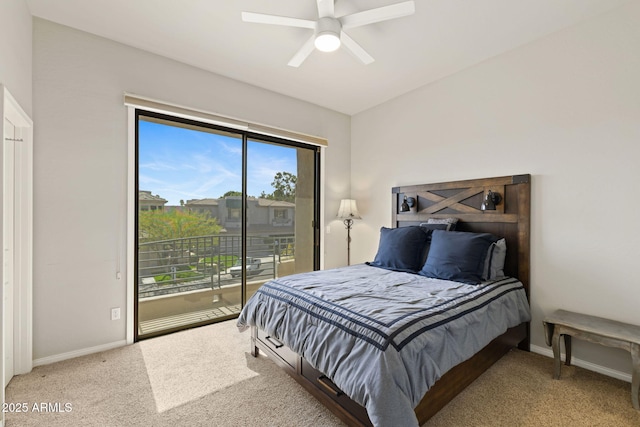
<instances>
[{"instance_id":1,"label":"right-hand panel of the sliding glass door, beside the lamp","mask_svg":"<svg viewBox=\"0 0 640 427\"><path fill-rule=\"evenodd\" d=\"M267 279L317 269L316 163L314 149L248 139L247 298Z\"/></svg>"}]
</instances>

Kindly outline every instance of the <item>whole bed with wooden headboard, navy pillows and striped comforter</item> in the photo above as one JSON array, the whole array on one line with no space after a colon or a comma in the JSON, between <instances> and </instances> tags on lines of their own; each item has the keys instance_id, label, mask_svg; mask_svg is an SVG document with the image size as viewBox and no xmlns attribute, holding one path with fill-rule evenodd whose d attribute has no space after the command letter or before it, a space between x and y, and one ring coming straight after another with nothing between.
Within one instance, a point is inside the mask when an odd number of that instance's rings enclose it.
<instances>
[{"instance_id":1,"label":"whole bed with wooden headboard, navy pillows and striped comforter","mask_svg":"<svg viewBox=\"0 0 640 427\"><path fill-rule=\"evenodd\" d=\"M238 320L254 356L263 350L348 425L422 424L510 348L529 347L529 175L391 193L373 262L269 281ZM471 276L461 247L474 248Z\"/></svg>"}]
</instances>

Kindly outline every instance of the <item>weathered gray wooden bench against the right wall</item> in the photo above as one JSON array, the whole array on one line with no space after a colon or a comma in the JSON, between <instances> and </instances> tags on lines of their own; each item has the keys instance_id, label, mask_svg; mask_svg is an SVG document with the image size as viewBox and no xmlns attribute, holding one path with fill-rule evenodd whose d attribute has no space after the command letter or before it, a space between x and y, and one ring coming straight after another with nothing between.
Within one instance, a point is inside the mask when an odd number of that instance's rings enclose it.
<instances>
[{"instance_id":1,"label":"weathered gray wooden bench against the right wall","mask_svg":"<svg viewBox=\"0 0 640 427\"><path fill-rule=\"evenodd\" d=\"M571 337L617 347L631 352L633 374L631 377L631 401L640 410L638 391L640 388L640 326L603 319L586 314L558 310L544 321L547 345L553 348L553 377L560 379L560 337L564 336L565 364L571 365Z\"/></svg>"}]
</instances>

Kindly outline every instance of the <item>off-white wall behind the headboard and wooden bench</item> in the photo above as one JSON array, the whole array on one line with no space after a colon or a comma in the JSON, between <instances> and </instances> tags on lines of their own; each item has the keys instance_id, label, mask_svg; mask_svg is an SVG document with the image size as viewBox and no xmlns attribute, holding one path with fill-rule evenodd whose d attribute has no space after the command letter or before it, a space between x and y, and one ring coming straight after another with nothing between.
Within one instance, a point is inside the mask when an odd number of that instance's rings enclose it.
<instances>
[{"instance_id":1,"label":"off-white wall behind the headboard and wooden bench","mask_svg":"<svg viewBox=\"0 0 640 427\"><path fill-rule=\"evenodd\" d=\"M355 261L392 186L530 173L532 344L557 308L640 324L638 22L632 2L352 117ZM628 352L574 341L630 372Z\"/></svg>"}]
</instances>

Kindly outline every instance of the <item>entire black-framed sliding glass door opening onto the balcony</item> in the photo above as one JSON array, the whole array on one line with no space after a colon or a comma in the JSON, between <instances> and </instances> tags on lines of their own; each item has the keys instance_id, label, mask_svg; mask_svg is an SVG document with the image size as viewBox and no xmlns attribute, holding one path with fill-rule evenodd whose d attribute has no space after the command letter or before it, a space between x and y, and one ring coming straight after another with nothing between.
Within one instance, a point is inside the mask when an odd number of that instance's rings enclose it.
<instances>
[{"instance_id":1,"label":"entire black-framed sliding glass door opening onto the balcony","mask_svg":"<svg viewBox=\"0 0 640 427\"><path fill-rule=\"evenodd\" d=\"M136 338L227 320L318 268L318 149L137 111Z\"/></svg>"}]
</instances>

